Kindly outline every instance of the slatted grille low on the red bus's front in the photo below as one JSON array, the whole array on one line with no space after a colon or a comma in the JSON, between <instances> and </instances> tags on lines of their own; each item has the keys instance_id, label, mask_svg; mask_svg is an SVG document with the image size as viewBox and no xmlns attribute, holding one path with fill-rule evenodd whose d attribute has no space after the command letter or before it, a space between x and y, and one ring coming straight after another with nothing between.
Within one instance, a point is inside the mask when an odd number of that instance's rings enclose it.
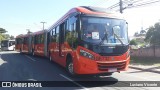
<instances>
[{"instance_id":1,"label":"slatted grille low on the red bus's front","mask_svg":"<svg viewBox=\"0 0 160 90\"><path fill-rule=\"evenodd\" d=\"M117 70L123 70L126 67L126 62L114 62L114 63L97 63L100 71L108 71L109 68L116 68Z\"/></svg>"}]
</instances>

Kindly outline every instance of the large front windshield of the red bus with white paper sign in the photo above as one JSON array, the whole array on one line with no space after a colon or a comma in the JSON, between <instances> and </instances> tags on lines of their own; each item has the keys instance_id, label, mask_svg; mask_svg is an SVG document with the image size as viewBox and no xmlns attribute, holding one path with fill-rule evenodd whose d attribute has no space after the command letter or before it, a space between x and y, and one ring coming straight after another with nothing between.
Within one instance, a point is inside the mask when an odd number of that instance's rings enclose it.
<instances>
[{"instance_id":1,"label":"large front windshield of the red bus with white paper sign","mask_svg":"<svg viewBox=\"0 0 160 90\"><path fill-rule=\"evenodd\" d=\"M121 19L83 17L82 40L96 45L128 44L127 23Z\"/></svg>"}]
</instances>

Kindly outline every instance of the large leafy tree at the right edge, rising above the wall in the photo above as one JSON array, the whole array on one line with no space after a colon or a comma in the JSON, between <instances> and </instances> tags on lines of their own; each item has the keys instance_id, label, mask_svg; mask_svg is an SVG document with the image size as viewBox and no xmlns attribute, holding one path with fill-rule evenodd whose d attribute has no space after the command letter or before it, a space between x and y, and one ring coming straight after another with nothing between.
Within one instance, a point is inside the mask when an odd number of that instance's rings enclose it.
<instances>
[{"instance_id":1,"label":"large leafy tree at the right edge, rising above the wall","mask_svg":"<svg viewBox=\"0 0 160 90\"><path fill-rule=\"evenodd\" d=\"M160 23L149 27L145 41L149 42L151 45L160 45Z\"/></svg>"}]
</instances>

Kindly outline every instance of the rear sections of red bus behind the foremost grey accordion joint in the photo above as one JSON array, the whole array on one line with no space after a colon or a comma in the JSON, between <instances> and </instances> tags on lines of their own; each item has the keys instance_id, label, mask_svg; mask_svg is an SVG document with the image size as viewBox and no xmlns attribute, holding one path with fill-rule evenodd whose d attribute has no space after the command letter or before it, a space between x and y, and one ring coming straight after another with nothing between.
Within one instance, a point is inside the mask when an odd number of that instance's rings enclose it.
<instances>
[{"instance_id":1,"label":"rear sections of red bus behind the foremost grey accordion joint","mask_svg":"<svg viewBox=\"0 0 160 90\"><path fill-rule=\"evenodd\" d=\"M16 37L16 50L21 53L32 54L33 56L47 56L47 53L45 53L45 50L47 50L45 48L47 47L46 35L46 30L18 35Z\"/></svg>"}]
</instances>

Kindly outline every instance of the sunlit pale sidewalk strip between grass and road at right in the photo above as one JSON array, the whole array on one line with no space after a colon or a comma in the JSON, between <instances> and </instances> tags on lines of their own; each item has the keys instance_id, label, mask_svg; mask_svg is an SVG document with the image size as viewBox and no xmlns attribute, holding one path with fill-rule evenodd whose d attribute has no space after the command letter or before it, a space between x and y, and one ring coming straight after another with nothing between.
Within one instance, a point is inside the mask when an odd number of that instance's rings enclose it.
<instances>
[{"instance_id":1,"label":"sunlit pale sidewalk strip between grass and road at right","mask_svg":"<svg viewBox=\"0 0 160 90\"><path fill-rule=\"evenodd\" d=\"M153 66L153 65L144 66L144 65L133 65L132 64L132 65L129 65L129 68L160 74L160 66Z\"/></svg>"}]
</instances>

